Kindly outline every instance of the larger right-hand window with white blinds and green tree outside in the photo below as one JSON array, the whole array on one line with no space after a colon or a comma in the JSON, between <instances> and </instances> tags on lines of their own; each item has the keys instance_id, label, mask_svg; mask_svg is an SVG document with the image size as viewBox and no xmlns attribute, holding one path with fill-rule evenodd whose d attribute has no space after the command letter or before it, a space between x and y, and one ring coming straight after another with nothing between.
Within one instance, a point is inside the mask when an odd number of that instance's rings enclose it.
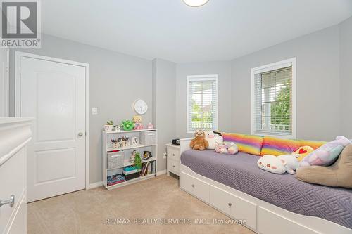
<instances>
[{"instance_id":1,"label":"larger right-hand window with white blinds and green tree outside","mask_svg":"<svg viewBox=\"0 0 352 234\"><path fill-rule=\"evenodd\" d=\"M296 138L296 58L252 69L252 134Z\"/></svg>"}]
</instances>

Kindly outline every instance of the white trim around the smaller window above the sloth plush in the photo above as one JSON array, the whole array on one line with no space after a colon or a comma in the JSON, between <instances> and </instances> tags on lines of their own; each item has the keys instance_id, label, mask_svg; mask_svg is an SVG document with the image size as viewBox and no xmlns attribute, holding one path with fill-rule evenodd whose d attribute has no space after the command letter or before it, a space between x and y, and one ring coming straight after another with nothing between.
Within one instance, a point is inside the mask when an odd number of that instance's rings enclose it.
<instances>
[{"instance_id":1,"label":"white trim around the smaller window above the sloth plush","mask_svg":"<svg viewBox=\"0 0 352 234\"><path fill-rule=\"evenodd\" d=\"M213 105L215 105L215 114L213 114L213 130L218 130L218 115L219 115L219 75L218 74L206 74L206 75L189 75L187 76L187 133L193 134L195 129L190 128L190 98L189 98L189 89L190 89L190 82L206 82L206 81L215 81L215 96L213 96Z\"/></svg>"}]
</instances>

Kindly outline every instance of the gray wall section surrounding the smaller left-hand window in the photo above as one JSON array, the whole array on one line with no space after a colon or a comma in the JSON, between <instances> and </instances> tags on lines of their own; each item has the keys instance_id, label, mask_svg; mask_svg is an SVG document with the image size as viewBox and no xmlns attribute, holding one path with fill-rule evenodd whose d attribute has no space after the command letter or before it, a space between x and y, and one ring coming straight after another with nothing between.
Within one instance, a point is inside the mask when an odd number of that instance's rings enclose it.
<instances>
[{"instance_id":1,"label":"gray wall section surrounding the smaller left-hand window","mask_svg":"<svg viewBox=\"0 0 352 234\"><path fill-rule=\"evenodd\" d=\"M219 75L219 129L231 128L231 63L218 61L208 63L180 63L176 65L176 136L191 137L187 134L187 76L197 74Z\"/></svg>"}]
</instances>

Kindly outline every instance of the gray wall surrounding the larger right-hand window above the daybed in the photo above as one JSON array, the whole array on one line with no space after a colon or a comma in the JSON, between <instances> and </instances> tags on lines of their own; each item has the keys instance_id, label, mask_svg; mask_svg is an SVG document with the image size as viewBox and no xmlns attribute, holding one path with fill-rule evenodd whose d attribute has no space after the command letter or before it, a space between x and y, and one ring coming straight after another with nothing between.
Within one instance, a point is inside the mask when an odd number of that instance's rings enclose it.
<instances>
[{"instance_id":1,"label":"gray wall surrounding the larger right-hand window above the daybed","mask_svg":"<svg viewBox=\"0 0 352 234\"><path fill-rule=\"evenodd\" d=\"M251 68L293 57L297 59L297 138L331 140L341 134L338 25L232 60L232 131L251 133Z\"/></svg>"}]
</instances>

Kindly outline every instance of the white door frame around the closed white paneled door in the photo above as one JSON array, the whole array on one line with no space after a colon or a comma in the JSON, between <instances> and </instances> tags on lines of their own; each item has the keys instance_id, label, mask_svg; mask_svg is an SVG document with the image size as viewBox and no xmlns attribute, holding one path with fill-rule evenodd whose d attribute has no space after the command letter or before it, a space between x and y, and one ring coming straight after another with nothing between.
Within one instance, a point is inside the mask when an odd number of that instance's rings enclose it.
<instances>
[{"instance_id":1,"label":"white door frame around the closed white paneled door","mask_svg":"<svg viewBox=\"0 0 352 234\"><path fill-rule=\"evenodd\" d=\"M88 63L80 63L80 62L75 62L72 60L65 60L61 58L53 58L53 57L48 57L48 56L39 56L37 54L33 53L25 53L25 52L20 52L20 51L15 51L15 117L20 117L21 115L21 104L20 104L20 98L21 98L21 91L20 91L20 84L21 84L21 79L20 79L20 60L21 57L27 57L27 58L37 58L40 60L48 60L48 61L53 61L57 63L66 63L70 65L77 65L81 67L85 67L86 70L86 113L85 113L85 120L86 120L86 141L85 141L85 149L86 149L86 159L85 159L85 171L86 171L86 184L85 188L89 189L89 64Z\"/></svg>"}]
</instances>

